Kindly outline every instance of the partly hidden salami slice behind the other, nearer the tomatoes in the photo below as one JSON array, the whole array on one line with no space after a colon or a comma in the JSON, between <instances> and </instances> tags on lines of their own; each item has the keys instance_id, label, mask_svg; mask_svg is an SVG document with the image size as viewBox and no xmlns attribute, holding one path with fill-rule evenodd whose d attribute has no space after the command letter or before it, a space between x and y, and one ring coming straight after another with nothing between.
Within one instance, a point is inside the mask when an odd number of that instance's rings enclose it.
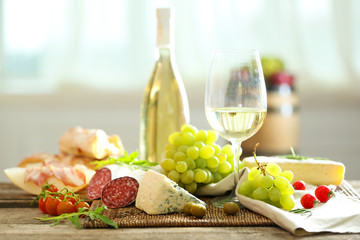
<instances>
[{"instance_id":1,"label":"partly hidden salami slice behind the other, nearer the tomatoes","mask_svg":"<svg viewBox=\"0 0 360 240\"><path fill-rule=\"evenodd\" d=\"M87 196L89 199L97 199L101 197L101 192L104 186L111 181L111 170L108 168L101 168L98 170L95 175L91 178L88 189Z\"/></svg>"}]
</instances>

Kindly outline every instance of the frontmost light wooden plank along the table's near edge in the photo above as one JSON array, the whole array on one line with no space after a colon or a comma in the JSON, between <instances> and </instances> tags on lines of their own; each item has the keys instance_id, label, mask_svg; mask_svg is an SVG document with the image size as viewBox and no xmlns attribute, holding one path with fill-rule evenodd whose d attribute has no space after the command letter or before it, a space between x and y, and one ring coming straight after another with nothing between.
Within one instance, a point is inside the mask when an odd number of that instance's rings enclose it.
<instances>
[{"instance_id":1,"label":"frontmost light wooden plank along the table's near edge","mask_svg":"<svg viewBox=\"0 0 360 240\"><path fill-rule=\"evenodd\" d=\"M19 230L17 225L0 225L0 232L7 239L164 239L164 240L359 240L355 234L317 234L307 237L295 237L277 227L240 227L240 228L123 228L123 229L86 229L78 230L71 226L59 225L49 227L43 225L26 225Z\"/></svg>"}]
</instances>

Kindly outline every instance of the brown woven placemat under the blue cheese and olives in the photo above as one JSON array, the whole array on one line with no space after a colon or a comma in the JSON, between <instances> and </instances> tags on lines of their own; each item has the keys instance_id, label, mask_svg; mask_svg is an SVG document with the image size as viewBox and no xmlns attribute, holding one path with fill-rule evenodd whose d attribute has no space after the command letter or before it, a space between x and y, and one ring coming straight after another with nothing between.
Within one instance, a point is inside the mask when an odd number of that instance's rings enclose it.
<instances>
[{"instance_id":1,"label":"brown woven placemat under the blue cheese and olives","mask_svg":"<svg viewBox=\"0 0 360 240\"><path fill-rule=\"evenodd\" d=\"M344 194L360 200L360 195L352 186L343 181L335 192ZM172 213L165 215L148 215L137 209L134 204L118 208L108 209L103 215L109 217L117 223L119 227L141 228L141 227L241 227L241 226L275 226L275 223L267 217L252 212L249 209L240 209L236 215L226 215L221 208L210 204L211 198L201 198L207 204L207 213L204 218L187 216L184 213ZM91 209L95 210L102 206L100 200L93 201ZM108 227L101 221L87 218L83 223L84 228L106 228Z\"/></svg>"}]
</instances>

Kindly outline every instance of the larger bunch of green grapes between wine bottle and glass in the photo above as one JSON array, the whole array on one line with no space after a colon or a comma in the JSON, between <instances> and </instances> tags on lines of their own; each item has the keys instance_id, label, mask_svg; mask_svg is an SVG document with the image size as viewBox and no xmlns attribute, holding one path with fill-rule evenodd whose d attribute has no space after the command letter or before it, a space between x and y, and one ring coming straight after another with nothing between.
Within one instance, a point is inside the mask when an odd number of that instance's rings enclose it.
<instances>
[{"instance_id":1,"label":"larger bunch of green grapes between wine bottle and glass","mask_svg":"<svg viewBox=\"0 0 360 240\"><path fill-rule=\"evenodd\" d=\"M216 183L233 172L230 145L216 144L218 135L212 130L198 130L184 124L181 132L169 136L165 159L160 162L164 174L190 193L204 184Z\"/></svg>"}]
</instances>

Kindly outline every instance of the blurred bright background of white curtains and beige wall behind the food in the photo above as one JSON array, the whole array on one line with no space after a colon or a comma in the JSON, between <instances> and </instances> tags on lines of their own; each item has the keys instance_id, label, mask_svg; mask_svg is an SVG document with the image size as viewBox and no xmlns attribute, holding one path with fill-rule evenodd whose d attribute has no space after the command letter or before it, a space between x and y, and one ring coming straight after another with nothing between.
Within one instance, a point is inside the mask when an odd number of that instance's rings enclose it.
<instances>
[{"instance_id":1,"label":"blurred bright background of white curtains and beige wall behind the food","mask_svg":"<svg viewBox=\"0 0 360 240\"><path fill-rule=\"evenodd\" d=\"M212 51L256 48L296 76L300 153L342 161L346 178L360 179L356 0L0 0L0 168L57 153L60 135L76 125L117 133L136 150L155 9L164 6L176 9L175 56L194 125L209 128Z\"/></svg>"}]
</instances>

